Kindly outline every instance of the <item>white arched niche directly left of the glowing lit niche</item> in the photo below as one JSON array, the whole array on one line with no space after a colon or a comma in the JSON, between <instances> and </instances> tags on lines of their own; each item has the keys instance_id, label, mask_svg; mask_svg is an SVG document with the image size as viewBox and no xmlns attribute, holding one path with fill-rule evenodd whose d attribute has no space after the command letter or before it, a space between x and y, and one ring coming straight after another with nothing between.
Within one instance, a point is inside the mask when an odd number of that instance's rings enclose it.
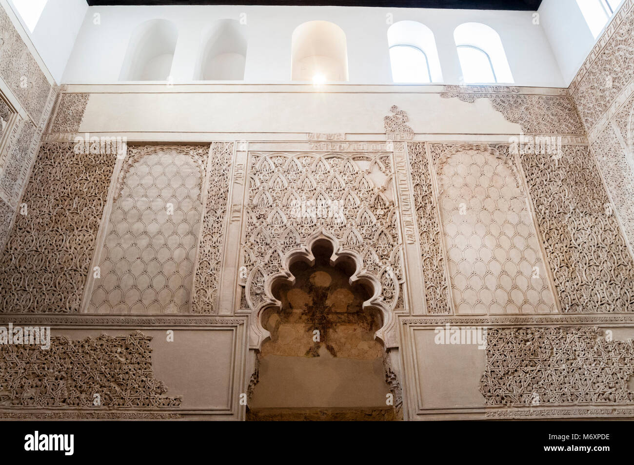
<instances>
[{"instance_id":1,"label":"white arched niche directly left of the glowing lit niche","mask_svg":"<svg viewBox=\"0 0 634 465\"><path fill-rule=\"evenodd\" d=\"M214 22L202 35L202 54L194 78L242 81L247 60L246 27L237 20Z\"/></svg>"}]
</instances>

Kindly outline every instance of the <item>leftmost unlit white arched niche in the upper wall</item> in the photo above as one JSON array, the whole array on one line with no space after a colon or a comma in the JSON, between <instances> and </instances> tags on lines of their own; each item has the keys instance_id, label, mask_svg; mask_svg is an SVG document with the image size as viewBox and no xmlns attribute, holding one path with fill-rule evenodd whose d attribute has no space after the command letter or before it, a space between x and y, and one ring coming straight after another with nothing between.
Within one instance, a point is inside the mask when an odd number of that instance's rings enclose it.
<instances>
[{"instance_id":1,"label":"leftmost unlit white arched niche in the upper wall","mask_svg":"<svg viewBox=\"0 0 634 465\"><path fill-rule=\"evenodd\" d=\"M169 20L141 23L127 46L119 81L165 81L169 78L178 29Z\"/></svg>"}]
</instances>

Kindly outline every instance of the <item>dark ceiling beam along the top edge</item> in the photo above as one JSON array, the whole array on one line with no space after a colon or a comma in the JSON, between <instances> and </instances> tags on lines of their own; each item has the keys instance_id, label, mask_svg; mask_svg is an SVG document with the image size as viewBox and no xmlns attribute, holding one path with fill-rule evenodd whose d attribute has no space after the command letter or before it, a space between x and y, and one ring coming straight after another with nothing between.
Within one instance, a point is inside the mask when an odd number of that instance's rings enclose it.
<instances>
[{"instance_id":1,"label":"dark ceiling beam along the top edge","mask_svg":"<svg viewBox=\"0 0 634 465\"><path fill-rule=\"evenodd\" d=\"M457 8L460 10L536 11L541 0L87 0L105 5L258 5L258 6L381 6L384 8Z\"/></svg>"}]
</instances>

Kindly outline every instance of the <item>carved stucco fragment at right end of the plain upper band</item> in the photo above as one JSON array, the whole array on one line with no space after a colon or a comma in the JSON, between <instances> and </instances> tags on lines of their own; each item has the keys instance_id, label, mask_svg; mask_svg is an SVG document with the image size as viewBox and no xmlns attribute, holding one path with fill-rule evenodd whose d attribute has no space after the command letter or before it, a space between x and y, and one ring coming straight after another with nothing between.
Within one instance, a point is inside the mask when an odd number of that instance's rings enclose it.
<instances>
[{"instance_id":1,"label":"carved stucco fragment at right end of the plain upper band","mask_svg":"<svg viewBox=\"0 0 634 465\"><path fill-rule=\"evenodd\" d=\"M464 90L464 91L461 91ZM505 119L517 123L524 133L585 135L574 100L567 95L526 95L474 92L474 86L445 86L443 98L475 102L488 98Z\"/></svg>"}]
</instances>

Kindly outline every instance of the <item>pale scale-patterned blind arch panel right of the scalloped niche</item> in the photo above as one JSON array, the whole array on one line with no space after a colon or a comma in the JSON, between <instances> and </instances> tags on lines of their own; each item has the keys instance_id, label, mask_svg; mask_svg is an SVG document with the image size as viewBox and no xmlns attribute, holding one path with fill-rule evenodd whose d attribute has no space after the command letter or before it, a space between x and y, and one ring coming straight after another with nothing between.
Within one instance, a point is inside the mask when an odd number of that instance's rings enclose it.
<instances>
[{"instance_id":1,"label":"pale scale-patterned blind arch panel right of the scalloped niche","mask_svg":"<svg viewBox=\"0 0 634 465\"><path fill-rule=\"evenodd\" d=\"M430 144L456 313L550 313L555 299L507 145Z\"/></svg>"}]
</instances>

